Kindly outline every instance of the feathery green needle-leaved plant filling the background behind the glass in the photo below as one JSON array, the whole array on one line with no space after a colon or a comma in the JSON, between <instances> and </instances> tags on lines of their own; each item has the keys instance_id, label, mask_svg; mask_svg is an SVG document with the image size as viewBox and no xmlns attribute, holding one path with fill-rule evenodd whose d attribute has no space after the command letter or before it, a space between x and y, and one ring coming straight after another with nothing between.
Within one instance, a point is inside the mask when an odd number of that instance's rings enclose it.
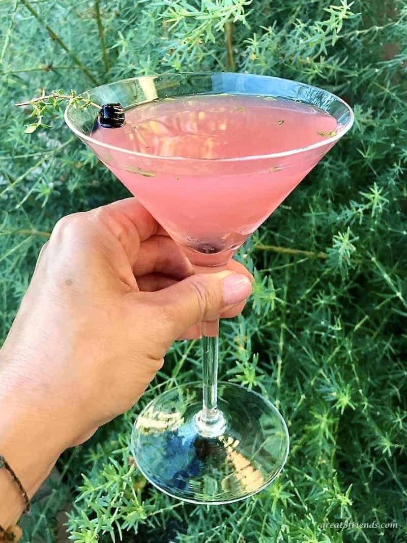
<instances>
[{"instance_id":1,"label":"feathery green needle-leaved plant filling the background behind the glass","mask_svg":"<svg viewBox=\"0 0 407 543\"><path fill-rule=\"evenodd\" d=\"M61 94L236 70L323 86L355 111L354 129L240 251L256 284L244 317L222 324L220 378L265 394L288 421L276 483L205 508L139 475L137 413L200 378L198 343L179 342L137 406L62 455L24 541L56 541L66 518L77 543L405 541L406 51L403 0L0 4L2 338L56 220L127 195L63 127ZM64 91L35 102L34 119L33 105L15 108L43 89Z\"/></svg>"}]
</instances>

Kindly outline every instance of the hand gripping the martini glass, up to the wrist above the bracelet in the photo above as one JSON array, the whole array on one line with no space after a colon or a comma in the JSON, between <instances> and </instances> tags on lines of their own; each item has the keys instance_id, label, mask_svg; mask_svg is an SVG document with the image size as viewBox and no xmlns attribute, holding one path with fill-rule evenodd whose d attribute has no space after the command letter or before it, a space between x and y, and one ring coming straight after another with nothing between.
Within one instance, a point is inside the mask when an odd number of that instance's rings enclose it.
<instances>
[{"instance_id":1,"label":"hand gripping the martini glass, up to the wrist above the bracelet","mask_svg":"<svg viewBox=\"0 0 407 543\"><path fill-rule=\"evenodd\" d=\"M0 353L0 402L24 398L59 452L81 443L138 400L175 339L237 315L251 280L235 261L193 275L134 198L64 217Z\"/></svg>"}]
</instances>

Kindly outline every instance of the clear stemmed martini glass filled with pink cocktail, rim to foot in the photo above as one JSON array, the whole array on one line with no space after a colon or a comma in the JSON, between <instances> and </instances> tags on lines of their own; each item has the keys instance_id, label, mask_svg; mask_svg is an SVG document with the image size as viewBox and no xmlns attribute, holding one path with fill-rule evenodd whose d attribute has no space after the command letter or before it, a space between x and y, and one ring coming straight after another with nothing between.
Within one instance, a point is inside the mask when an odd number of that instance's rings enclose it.
<instances>
[{"instance_id":1,"label":"clear stemmed martini glass filled with pink cocktail, rim to foot","mask_svg":"<svg viewBox=\"0 0 407 543\"><path fill-rule=\"evenodd\" d=\"M127 124L95 130L93 106L69 105L69 128L198 273L224 269L353 123L349 106L325 90L251 74L138 77L83 96L121 104ZM230 503L259 492L277 477L289 450L287 426L269 400L218 384L218 326L202 324L203 384L176 384L157 396L131 437L144 476L193 503Z\"/></svg>"}]
</instances>

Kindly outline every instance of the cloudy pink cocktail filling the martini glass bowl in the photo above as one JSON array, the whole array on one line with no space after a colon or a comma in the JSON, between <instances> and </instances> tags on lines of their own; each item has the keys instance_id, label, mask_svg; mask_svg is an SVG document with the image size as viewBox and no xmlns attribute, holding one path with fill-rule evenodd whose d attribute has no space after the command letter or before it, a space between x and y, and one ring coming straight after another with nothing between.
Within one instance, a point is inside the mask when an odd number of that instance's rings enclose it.
<instances>
[{"instance_id":1,"label":"cloudy pink cocktail filling the martini glass bowl","mask_svg":"<svg viewBox=\"0 0 407 543\"><path fill-rule=\"evenodd\" d=\"M340 130L313 105L247 94L157 100L125 118L92 132L116 149L92 149L200 266L224 264L334 143L292 151Z\"/></svg>"}]
</instances>

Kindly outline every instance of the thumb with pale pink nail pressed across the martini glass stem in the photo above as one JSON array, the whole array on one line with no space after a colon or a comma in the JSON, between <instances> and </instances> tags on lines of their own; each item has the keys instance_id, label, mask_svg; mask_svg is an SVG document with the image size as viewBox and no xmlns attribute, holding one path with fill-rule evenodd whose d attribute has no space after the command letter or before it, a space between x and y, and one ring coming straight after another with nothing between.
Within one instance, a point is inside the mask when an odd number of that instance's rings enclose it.
<instances>
[{"instance_id":1,"label":"thumb with pale pink nail pressed across the martini glass stem","mask_svg":"<svg viewBox=\"0 0 407 543\"><path fill-rule=\"evenodd\" d=\"M166 324L176 339L204 320L219 318L226 308L250 296L252 286L243 274L231 271L196 274L161 291L149 293L154 305L166 315Z\"/></svg>"}]
</instances>

